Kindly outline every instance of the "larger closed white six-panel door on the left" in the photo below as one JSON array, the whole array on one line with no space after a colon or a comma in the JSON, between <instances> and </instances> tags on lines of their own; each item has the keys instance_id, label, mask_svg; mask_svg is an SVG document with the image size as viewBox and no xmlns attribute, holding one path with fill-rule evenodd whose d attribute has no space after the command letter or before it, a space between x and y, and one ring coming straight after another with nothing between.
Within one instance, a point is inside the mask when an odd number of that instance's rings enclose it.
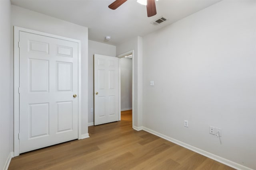
<instances>
[{"instance_id":1,"label":"larger closed white six-panel door on the left","mask_svg":"<svg viewBox=\"0 0 256 170\"><path fill-rule=\"evenodd\" d=\"M78 43L19 38L20 153L78 139Z\"/></svg>"}]
</instances>

